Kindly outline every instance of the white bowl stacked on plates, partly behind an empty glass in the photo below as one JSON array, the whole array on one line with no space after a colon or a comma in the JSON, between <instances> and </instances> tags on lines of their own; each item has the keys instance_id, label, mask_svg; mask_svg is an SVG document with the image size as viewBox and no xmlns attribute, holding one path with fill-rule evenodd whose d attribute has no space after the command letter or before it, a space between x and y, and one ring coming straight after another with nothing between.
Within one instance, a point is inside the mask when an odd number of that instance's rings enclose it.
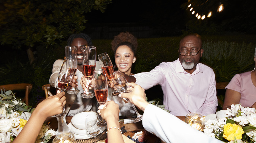
<instances>
[{"instance_id":1,"label":"white bowl stacked on plates, partly behind an empty glass","mask_svg":"<svg viewBox=\"0 0 256 143\"><path fill-rule=\"evenodd\" d=\"M97 114L97 113L92 111L85 111L85 112L78 113L71 119L72 125L78 129L86 130L85 117L89 114Z\"/></svg>"}]
</instances>

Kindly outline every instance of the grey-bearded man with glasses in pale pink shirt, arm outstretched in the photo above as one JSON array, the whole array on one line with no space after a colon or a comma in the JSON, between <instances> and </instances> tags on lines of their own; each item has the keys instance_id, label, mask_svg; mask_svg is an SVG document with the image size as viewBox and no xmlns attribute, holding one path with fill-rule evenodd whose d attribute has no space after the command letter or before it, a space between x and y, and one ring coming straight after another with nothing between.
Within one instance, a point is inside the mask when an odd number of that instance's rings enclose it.
<instances>
[{"instance_id":1,"label":"grey-bearded man with glasses in pale pink shirt, arm outstretched","mask_svg":"<svg viewBox=\"0 0 256 143\"><path fill-rule=\"evenodd\" d=\"M179 59L162 62L150 72L126 76L144 89L160 85L165 109L175 116L201 115L216 111L217 96L213 70L199 63L203 54L199 35L187 35L180 41Z\"/></svg>"}]
</instances>

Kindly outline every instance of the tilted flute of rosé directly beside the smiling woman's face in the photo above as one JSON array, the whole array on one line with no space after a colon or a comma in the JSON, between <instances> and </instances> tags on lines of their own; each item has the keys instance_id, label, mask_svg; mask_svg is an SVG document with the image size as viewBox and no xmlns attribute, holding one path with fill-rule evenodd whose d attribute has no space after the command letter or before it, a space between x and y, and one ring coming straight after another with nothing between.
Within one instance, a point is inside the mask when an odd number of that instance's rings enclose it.
<instances>
[{"instance_id":1,"label":"tilted flute of ros\u00e9 directly beside the smiling woman's face","mask_svg":"<svg viewBox=\"0 0 256 143\"><path fill-rule=\"evenodd\" d=\"M111 74L114 72L113 64L108 56L108 53L102 53L98 55L99 63L102 70L105 70L105 74L108 80L112 81ZM112 96L117 97L119 92L117 90L113 91Z\"/></svg>"}]
</instances>

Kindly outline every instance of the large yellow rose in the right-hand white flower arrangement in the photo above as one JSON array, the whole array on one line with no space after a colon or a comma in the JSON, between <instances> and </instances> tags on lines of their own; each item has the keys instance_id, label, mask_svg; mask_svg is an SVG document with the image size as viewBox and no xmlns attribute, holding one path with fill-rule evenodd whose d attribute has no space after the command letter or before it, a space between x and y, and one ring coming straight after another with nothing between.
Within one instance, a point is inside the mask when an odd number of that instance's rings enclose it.
<instances>
[{"instance_id":1,"label":"large yellow rose in the right-hand white flower arrangement","mask_svg":"<svg viewBox=\"0 0 256 143\"><path fill-rule=\"evenodd\" d=\"M234 140L234 137L241 139L244 133L244 130L237 124L227 123L224 125L223 137L228 141Z\"/></svg>"}]
</instances>

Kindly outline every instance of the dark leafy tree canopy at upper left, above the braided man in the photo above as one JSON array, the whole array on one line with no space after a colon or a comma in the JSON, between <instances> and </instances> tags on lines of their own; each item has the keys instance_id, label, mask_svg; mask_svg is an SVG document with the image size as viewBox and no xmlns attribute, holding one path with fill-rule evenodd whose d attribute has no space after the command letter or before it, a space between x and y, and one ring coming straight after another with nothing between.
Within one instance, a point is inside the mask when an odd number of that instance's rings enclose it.
<instances>
[{"instance_id":1,"label":"dark leafy tree canopy at upper left, above the braided man","mask_svg":"<svg viewBox=\"0 0 256 143\"><path fill-rule=\"evenodd\" d=\"M111 0L4 0L0 4L2 45L13 48L53 47L85 29L85 13L104 12Z\"/></svg>"}]
</instances>

